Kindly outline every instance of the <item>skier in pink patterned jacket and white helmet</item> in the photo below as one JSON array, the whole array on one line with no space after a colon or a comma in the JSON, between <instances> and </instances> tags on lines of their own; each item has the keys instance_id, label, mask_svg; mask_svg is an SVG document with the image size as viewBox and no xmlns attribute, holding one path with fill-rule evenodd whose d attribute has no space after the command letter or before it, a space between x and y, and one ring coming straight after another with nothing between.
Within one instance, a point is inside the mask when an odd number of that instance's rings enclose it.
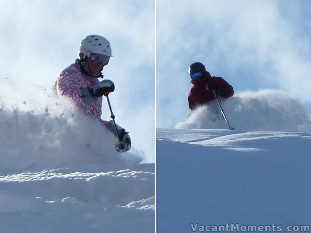
<instances>
[{"instance_id":1,"label":"skier in pink patterned jacket and white helmet","mask_svg":"<svg viewBox=\"0 0 311 233\"><path fill-rule=\"evenodd\" d=\"M111 47L106 38L100 35L86 36L80 44L79 59L60 73L53 89L59 96L73 100L86 115L97 118L113 132L113 122L102 120L101 115L102 96L114 91L114 83L110 80L98 81L98 78L104 77L102 70L110 57ZM117 128L119 139L129 144L129 150L130 137L120 126Z\"/></svg>"}]
</instances>

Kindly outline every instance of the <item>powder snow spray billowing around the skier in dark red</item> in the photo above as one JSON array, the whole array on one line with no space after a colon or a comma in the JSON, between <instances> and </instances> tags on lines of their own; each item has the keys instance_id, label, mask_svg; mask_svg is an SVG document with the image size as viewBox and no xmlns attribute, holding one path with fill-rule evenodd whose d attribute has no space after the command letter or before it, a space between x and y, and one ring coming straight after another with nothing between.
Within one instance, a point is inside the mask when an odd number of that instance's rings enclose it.
<instances>
[{"instance_id":1,"label":"powder snow spray billowing around the skier in dark red","mask_svg":"<svg viewBox=\"0 0 311 233\"><path fill-rule=\"evenodd\" d=\"M306 110L281 91L247 91L219 100L230 125L237 130L311 133L311 118ZM191 112L175 128L227 129L228 126L215 100Z\"/></svg>"}]
</instances>

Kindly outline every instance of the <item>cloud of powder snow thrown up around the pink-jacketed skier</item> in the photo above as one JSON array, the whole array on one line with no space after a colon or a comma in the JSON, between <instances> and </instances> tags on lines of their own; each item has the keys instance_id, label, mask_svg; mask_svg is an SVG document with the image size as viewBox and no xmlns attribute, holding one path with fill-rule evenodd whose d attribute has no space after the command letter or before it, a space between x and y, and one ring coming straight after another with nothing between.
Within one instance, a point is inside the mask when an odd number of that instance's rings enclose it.
<instances>
[{"instance_id":1,"label":"cloud of powder snow thrown up around the pink-jacketed skier","mask_svg":"<svg viewBox=\"0 0 311 233\"><path fill-rule=\"evenodd\" d=\"M16 80L0 85L2 171L141 161L133 152L118 153L116 137L69 100Z\"/></svg>"}]
</instances>

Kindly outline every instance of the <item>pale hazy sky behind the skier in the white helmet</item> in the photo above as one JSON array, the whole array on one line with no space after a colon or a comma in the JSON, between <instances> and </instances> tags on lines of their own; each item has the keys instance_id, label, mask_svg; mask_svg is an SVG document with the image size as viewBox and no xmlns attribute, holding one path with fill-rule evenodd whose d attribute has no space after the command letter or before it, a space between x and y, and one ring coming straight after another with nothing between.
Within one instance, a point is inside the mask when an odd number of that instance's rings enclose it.
<instances>
[{"instance_id":1,"label":"pale hazy sky behind the skier in the white helmet","mask_svg":"<svg viewBox=\"0 0 311 233\"><path fill-rule=\"evenodd\" d=\"M50 90L59 73L74 63L87 34L105 36L113 57L104 77L116 86L110 95L116 121L131 133L133 146L154 160L153 0L10 0L0 1L0 9L0 78ZM103 112L109 120L105 100Z\"/></svg>"}]
</instances>

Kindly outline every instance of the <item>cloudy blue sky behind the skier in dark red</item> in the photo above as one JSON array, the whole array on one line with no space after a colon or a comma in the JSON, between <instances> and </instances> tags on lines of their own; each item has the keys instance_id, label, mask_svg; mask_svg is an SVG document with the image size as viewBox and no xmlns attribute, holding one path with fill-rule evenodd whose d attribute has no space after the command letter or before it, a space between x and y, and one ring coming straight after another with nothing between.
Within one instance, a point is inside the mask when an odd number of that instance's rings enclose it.
<instances>
[{"instance_id":1,"label":"cloudy blue sky behind the skier in dark red","mask_svg":"<svg viewBox=\"0 0 311 233\"><path fill-rule=\"evenodd\" d=\"M311 2L157 0L156 122L186 118L188 67L204 63L235 92L274 88L311 112Z\"/></svg>"}]
</instances>

